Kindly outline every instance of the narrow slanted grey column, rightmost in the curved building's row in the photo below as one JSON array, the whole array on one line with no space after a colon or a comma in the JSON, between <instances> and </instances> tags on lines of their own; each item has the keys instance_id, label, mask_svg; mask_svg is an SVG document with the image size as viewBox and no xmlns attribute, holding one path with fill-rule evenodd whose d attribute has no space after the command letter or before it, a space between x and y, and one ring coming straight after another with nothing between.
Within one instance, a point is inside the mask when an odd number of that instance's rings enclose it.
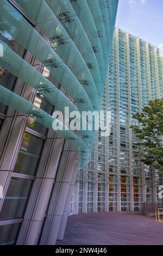
<instances>
[{"instance_id":1,"label":"narrow slanted grey column, rightmost in the curved building's row","mask_svg":"<svg viewBox=\"0 0 163 256\"><path fill-rule=\"evenodd\" d=\"M72 179L71 179L70 187L69 187L68 194L67 194L64 213L62 215L58 240L62 240L64 238L67 218L68 218L68 216L70 216L70 212L71 212L71 198L72 198L72 193L73 193L73 190L74 190L74 183L76 181L78 168L79 168L79 159L77 158L75 160L74 167L73 167Z\"/></svg>"}]
</instances>

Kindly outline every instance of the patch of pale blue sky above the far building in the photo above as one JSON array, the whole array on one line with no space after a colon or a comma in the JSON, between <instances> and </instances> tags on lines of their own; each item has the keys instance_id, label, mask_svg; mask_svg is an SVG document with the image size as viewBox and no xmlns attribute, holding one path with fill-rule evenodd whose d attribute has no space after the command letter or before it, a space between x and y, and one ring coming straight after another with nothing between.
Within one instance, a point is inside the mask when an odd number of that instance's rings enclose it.
<instances>
[{"instance_id":1,"label":"patch of pale blue sky above the far building","mask_svg":"<svg viewBox=\"0 0 163 256\"><path fill-rule=\"evenodd\" d=\"M119 0L116 26L163 49L163 0Z\"/></svg>"}]
</instances>

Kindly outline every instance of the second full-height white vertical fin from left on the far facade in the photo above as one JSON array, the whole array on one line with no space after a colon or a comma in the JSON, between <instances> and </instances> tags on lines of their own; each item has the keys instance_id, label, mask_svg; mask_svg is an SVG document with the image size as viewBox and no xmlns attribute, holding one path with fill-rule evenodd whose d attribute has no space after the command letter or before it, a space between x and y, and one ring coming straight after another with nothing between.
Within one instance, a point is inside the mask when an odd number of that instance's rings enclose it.
<instances>
[{"instance_id":1,"label":"second full-height white vertical fin from left on the far facade","mask_svg":"<svg viewBox=\"0 0 163 256\"><path fill-rule=\"evenodd\" d=\"M127 83L128 83L128 125L129 125L129 176L130 176L130 211L134 211L134 196L133 196L133 138L130 128L132 122L131 114L131 89L130 89L130 49L129 49L129 34L126 34L126 50L127 50Z\"/></svg>"}]
</instances>

